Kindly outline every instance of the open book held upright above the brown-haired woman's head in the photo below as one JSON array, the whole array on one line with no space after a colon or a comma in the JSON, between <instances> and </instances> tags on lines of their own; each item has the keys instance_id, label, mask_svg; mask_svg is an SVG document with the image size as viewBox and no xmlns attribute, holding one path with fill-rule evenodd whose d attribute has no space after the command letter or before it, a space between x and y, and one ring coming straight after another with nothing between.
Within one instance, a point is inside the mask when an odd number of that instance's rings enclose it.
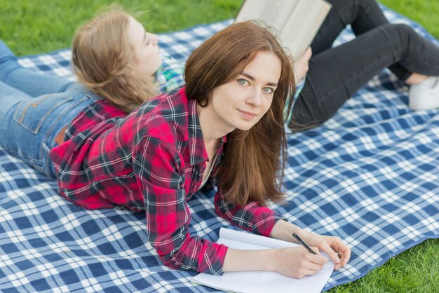
<instances>
[{"instance_id":1,"label":"open book held upright above the brown-haired woman's head","mask_svg":"<svg viewBox=\"0 0 439 293\"><path fill-rule=\"evenodd\" d=\"M245 0L235 22L261 20L275 27L282 46L296 60L313 41L330 8L324 0Z\"/></svg>"}]
</instances>

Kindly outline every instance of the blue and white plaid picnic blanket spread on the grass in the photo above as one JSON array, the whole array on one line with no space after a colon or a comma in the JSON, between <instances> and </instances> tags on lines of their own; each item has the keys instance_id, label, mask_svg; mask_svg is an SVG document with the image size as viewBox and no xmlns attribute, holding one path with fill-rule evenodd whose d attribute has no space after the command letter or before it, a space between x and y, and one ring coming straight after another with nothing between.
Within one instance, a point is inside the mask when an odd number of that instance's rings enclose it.
<instances>
[{"instance_id":1,"label":"blue and white plaid picnic blanket spread on the grass","mask_svg":"<svg viewBox=\"0 0 439 293\"><path fill-rule=\"evenodd\" d=\"M384 8L391 22L419 25ZM163 52L184 62L231 20L162 34ZM353 38L347 29L337 43ZM72 77L71 53L20 58ZM286 201L271 207L310 231L352 247L325 289L356 280L391 257L439 237L439 112L410 111L407 87L385 70L321 127L289 135ZM189 202L193 235L217 240L212 193ZM161 264L147 243L144 214L83 210L55 181L0 149L0 289L8 292L213 292L196 273Z\"/></svg>"}]
</instances>

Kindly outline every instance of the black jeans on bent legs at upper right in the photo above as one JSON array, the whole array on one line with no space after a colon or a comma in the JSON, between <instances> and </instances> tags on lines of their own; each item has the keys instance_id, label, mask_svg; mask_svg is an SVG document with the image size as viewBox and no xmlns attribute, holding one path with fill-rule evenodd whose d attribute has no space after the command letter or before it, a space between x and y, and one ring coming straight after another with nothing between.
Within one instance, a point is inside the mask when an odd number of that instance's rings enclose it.
<instances>
[{"instance_id":1,"label":"black jeans on bent legs at upper right","mask_svg":"<svg viewBox=\"0 0 439 293\"><path fill-rule=\"evenodd\" d=\"M412 72L439 76L439 47L410 26L389 24L376 1L327 1L332 8L311 43L313 57L290 128L327 121L386 67L402 81ZM356 39L330 48L349 24Z\"/></svg>"}]
</instances>

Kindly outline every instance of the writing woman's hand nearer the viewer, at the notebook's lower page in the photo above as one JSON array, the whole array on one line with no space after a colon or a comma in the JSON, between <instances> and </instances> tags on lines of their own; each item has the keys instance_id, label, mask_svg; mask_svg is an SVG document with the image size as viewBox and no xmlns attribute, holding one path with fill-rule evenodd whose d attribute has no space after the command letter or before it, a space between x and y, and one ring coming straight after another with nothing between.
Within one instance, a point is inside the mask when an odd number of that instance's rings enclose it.
<instances>
[{"instance_id":1,"label":"writing woman's hand nearer the viewer, at the notebook's lower page","mask_svg":"<svg viewBox=\"0 0 439 293\"><path fill-rule=\"evenodd\" d=\"M273 271L292 278L315 275L327 263L327 259L320 255L317 247L311 249L318 255L308 252L304 247L274 250Z\"/></svg>"}]
</instances>

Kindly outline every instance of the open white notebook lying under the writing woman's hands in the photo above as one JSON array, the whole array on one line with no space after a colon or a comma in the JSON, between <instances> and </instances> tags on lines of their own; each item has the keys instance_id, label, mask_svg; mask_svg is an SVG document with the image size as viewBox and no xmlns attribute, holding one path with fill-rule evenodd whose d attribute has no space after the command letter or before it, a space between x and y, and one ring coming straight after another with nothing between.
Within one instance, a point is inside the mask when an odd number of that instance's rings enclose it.
<instances>
[{"instance_id":1,"label":"open white notebook lying under the writing woman's hands","mask_svg":"<svg viewBox=\"0 0 439 293\"><path fill-rule=\"evenodd\" d=\"M251 233L221 228L217 243L238 250L266 250L298 246L282 240L259 236ZM326 254L322 253L327 257ZM328 258L329 259L329 258ZM270 271L227 272L223 275L201 273L191 282L228 292L321 292L334 271L334 262L328 261L316 275L307 275L301 279L289 278Z\"/></svg>"}]
</instances>

